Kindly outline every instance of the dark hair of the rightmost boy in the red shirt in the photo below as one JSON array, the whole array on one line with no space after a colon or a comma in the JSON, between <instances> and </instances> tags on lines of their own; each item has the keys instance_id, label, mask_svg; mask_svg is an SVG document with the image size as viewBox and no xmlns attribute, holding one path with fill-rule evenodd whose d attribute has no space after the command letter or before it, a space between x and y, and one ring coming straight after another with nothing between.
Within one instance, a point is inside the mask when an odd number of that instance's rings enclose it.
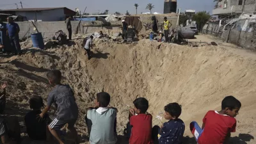
<instances>
[{"instance_id":1,"label":"dark hair of the rightmost boy in the red shirt","mask_svg":"<svg viewBox=\"0 0 256 144\"><path fill-rule=\"evenodd\" d=\"M225 97L221 102L221 109L229 108L231 111L234 108L241 108L241 102L232 95Z\"/></svg>"}]
</instances>

